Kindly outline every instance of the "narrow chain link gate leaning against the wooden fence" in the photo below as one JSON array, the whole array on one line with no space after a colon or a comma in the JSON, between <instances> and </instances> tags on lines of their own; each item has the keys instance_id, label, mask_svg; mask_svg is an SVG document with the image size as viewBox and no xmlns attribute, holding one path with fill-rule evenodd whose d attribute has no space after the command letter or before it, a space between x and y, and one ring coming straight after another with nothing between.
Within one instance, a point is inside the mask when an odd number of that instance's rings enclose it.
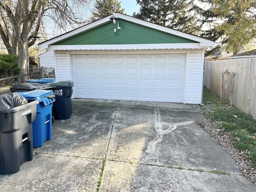
<instances>
[{"instance_id":1,"label":"narrow chain link gate leaning against the wooden fence","mask_svg":"<svg viewBox=\"0 0 256 192\"><path fill-rule=\"evenodd\" d=\"M234 92L234 77L235 73L226 70L222 72L222 89L221 100L224 100L233 105L233 92Z\"/></svg>"}]
</instances>

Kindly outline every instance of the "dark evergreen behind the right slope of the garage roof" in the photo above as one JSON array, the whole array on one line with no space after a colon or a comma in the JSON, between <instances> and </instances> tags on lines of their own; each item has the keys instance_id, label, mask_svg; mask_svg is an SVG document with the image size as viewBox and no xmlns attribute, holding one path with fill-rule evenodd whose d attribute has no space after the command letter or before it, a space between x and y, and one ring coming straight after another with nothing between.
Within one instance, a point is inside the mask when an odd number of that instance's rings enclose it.
<instances>
[{"instance_id":1,"label":"dark evergreen behind the right slope of the garage roof","mask_svg":"<svg viewBox=\"0 0 256 192\"><path fill-rule=\"evenodd\" d=\"M200 31L193 0L137 0L137 4L136 18L192 34Z\"/></svg>"}]
</instances>

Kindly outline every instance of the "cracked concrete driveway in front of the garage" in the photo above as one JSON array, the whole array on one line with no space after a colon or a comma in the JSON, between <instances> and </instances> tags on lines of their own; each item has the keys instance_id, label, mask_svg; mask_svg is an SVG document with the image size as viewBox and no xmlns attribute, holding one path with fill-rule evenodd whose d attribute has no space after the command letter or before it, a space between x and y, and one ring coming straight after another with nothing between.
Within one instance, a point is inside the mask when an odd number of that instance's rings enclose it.
<instances>
[{"instance_id":1,"label":"cracked concrete driveway in front of the garage","mask_svg":"<svg viewBox=\"0 0 256 192\"><path fill-rule=\"evenodd\" d=\"M195 120L198 105L74 99L3 192L255 192ZM218 173L217 173L218 172Z\"/></svg>"}]
</instances>

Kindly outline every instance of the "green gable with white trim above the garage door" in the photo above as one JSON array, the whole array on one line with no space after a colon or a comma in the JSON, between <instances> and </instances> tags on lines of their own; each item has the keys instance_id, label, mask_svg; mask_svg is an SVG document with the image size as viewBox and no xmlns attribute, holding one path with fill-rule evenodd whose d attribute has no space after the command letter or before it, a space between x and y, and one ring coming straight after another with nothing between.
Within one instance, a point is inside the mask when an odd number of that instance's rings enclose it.
<instances>
[{"instance_id":1,"label":"green gable with white trim above the garage door","mask_svg":"<svg viewBox=\"0 0 256 192\"><path fill-rule=\"evenodd\" d=\"M121 29L114 33L117 24L112 23L110 16L42 42L39 48L138 50L207 48L214 45L210 40L120 13L116 16Z\"/></svg>"}]
</instances>

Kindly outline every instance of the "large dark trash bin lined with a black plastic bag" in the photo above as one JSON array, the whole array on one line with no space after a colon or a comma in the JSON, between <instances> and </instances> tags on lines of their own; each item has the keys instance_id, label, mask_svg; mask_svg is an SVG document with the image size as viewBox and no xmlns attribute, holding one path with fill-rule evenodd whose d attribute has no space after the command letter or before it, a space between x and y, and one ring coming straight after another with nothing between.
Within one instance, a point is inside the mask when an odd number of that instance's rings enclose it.
<instances>
[{"instance_id":1,"label":"large dark trash bin lined with a black plastic bag","mask_svg":"<svg viewBox=\"0 0 256 192\"><path fill-rule=\"evenodd\" d=\"M0 174L14 174L33 159L32 122L38 103L0 109Z\"/></svg>"}]
</instances>

